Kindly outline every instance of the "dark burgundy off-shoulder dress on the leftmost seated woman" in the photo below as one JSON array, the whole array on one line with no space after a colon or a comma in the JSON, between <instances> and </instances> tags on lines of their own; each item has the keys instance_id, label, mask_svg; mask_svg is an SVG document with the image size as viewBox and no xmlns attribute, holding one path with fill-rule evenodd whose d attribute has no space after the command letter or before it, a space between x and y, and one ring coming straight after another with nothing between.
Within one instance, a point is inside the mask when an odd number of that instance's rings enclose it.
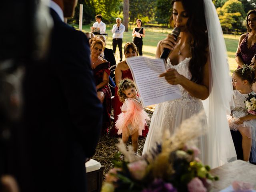
<instances>
[{"instance_id":1,"label":"dark burgundy off-shoulder dress on the leftmost seated woman","mask_svg":"<svg viewBox=\"0 0 256 192\"><path fill-rule=\"evenodd\" d=\"M110 67L109 62L105 62L105 63L99 64L98 66L96 66L96 68L93 69L96 85L102 82L104 72L106 72L108 75L110 74L110 70L108 69L109 67ZM105 94L105 99L103 102L102 132L106 133L108 132L108 127L111 124L111 119L110 119L111 96L110 96L110 90L108 89L107 85L97 90L97 92L99 91Z\"/></svg>"}]
</instances>

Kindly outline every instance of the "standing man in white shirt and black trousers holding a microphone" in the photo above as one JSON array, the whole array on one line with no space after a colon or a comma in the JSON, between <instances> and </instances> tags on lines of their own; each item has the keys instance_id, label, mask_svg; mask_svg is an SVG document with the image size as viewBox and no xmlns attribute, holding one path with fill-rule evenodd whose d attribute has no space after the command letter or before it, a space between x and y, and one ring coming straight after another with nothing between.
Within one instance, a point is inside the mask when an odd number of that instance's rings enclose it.
<instances>
[{"instance_id":1,"label":"standing man in white shirt and black trousers holding a microphone","mask_svg":"<svg viewBox=\"0 0 256 192\"><path fill-rule=\"evenodd\" d=\"M122 43L123 43L123 34L124 34L125 26L122 24L121 18L116 18L116 24L113 25L112 33L113 33L113 52L116 54L116 45L118 45L119 53L120 53L120 61L123 59L122 53Z\"/></svg>"}]
</instances>

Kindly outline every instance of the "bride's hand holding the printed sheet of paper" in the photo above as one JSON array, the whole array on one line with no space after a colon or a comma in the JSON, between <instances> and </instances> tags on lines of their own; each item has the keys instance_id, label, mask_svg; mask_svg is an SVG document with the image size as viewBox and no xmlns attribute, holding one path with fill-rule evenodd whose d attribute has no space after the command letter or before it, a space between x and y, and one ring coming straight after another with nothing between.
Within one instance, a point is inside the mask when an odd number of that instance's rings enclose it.
<instances>
[{"instance_id":1,"label":"bride's hand holding the printed sheet of paper","mask_svg":"<svg viewBox=\"0 0 256 192\"><path fill-rule=\"evenodd\" d=\"M182 84L184 76L179 74L175 69L168 69L166 72L159 75L164 77L166 81L172 85Z\"/></svg>"}]
</instances>

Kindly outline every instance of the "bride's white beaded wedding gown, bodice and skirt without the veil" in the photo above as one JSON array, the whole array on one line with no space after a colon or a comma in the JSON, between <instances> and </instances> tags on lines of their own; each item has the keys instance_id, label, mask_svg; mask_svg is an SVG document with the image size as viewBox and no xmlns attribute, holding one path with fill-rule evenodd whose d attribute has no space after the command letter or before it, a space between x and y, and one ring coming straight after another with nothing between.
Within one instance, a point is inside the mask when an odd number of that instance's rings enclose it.
<instances>
[{"instance_id":1,"label":"bride's white beaded wedding gown, bodice and skirt without the veil","mask_svg":"<svg viewBox=\"0 0 256 192\"><path fill-rule=\"evenodd\" d=\"M191 79L191 73L188 69L190 58L185 58L182 62L177 65L172 65L170 59L167 60L166 68L173 68L179 74ZM156 143L160 144L162 142L162 134L165 130L169 130L170 134L174 134L176 129L180 126L182 121L190 118L194 114L199 113L204 110L202 100L190 96L190 94L181 86L180 92L182 93L182 98L167 101L156 105L154 114L151 118L150 128L148 136L146 138L143 154L150 152L152 148L156 147ZM207 128L207 120L202 122L205 128ZM207 135L201 136L198 140L198 148L201 151L200 159L203 163L207 162Z\"/></svg>"}]
</instances>

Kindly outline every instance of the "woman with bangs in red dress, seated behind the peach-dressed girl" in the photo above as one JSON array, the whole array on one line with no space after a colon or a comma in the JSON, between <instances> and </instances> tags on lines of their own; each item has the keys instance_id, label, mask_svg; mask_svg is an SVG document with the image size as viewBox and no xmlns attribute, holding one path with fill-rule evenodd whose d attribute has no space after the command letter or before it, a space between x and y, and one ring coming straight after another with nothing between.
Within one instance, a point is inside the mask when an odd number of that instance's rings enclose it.
<instances>
[{"instance_id":1,"label":"woman with bangs in red dress, seated behind the peach-dressed girl","mask_svg":"<svg viewBox=\"0 0 256 192\"><path fill-rule=\"evenodd\" d=\"M137 55L138 55L138 50L137 50L136 45L133 42L127 42L124 45L125 58L134 57ZM120 135L117 134L118 129L116 129L115 123L118 118L118 115L121 113L121 107L123 105L123 103L119 100L119 96L117 94L117 92L118 92L117 85L118 85L119 81L124 78L130 78L131 80L133 80L132 73L131 73L129 66L127 65L125 60L117 64L116 72L115 72L116 88L115 88L115 96L112 100L112 106L114 109L114 123L113 123L112 129L110 130L110 134L112 136L116 136L116 137L120 137ZM145 130L142 131L142 136L146 137L147 134L148 134L148 126L145 125Z\"/></svg>"}]
</instances>

